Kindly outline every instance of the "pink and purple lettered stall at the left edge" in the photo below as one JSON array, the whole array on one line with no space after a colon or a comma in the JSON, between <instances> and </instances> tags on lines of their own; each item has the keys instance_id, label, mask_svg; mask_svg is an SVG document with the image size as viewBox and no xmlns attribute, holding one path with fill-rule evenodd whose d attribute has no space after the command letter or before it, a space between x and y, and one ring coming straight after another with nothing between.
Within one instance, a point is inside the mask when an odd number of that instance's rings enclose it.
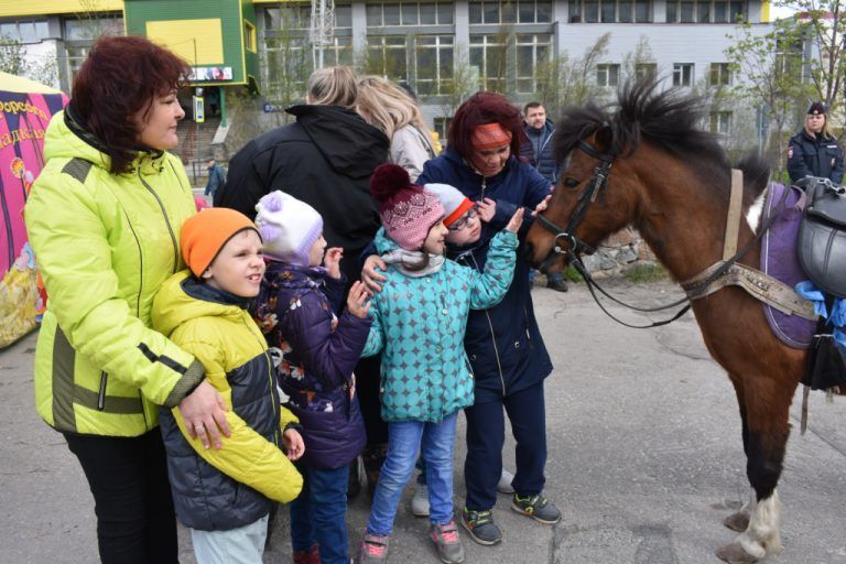
<instances>
[{"instance_id":1,"label":"pink and purple lettered stall at the left edge","mask_svg":"<svg viewBox=\"0 0 846 564\"><path fill-rule=\"evenodd\" d=\"M35 328L46 294L23 223L23 206L44 166L44 133L67 97L0 73L0 349Z\"/></svg>"}]
</instances>

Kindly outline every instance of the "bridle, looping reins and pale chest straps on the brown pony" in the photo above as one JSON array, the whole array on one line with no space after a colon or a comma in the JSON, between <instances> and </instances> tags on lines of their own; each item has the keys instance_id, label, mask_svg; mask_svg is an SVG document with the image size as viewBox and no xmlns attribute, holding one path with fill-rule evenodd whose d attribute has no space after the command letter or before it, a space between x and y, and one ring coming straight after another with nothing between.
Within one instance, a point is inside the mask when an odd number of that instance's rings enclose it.
<instances>
[{"instance_id":1,"label":"bridle, looping reins and pale chest straps on the brown pony","mask_svg":"<svg viewBox=\"0 0 846 564\"><path fill-rule=\"evenodd\" d=\"M685 297L682 297L671 304L657 307L637 307L609 294L596 282L596 280L590 275L584 262L582 261L581 251L587 248L587 246L576 238L575 230L584 219L589 205L596 200L598 193L606 187L608 182L608 170L610 169L615 156L598 152L584 140L578 142L578 149L588 155L600 160L601 164L594 170L594 176L590 178L590 183L587 189L585 189L579 195L576 209L571 216L570 221L567 221L566 229L560 228L553 221L546 219L540 214L535 217L535 220L538 220L547 231L555 235L555 245L543 260L541 269L549 265L555 256L565 254L573 268L575 268L582 278L584 278L587 289L596 304L606 315L608 315L608 317L616 321L620 325L633 329L649 329L652 327L660 327L662 325L668 325L674 322L687 313L692 306L693 300L705 297L706 295L709 295L725 288L726 285L739 285L757 300L772 305L782 312L798 314L805 318L816 318L812 311L812 304L799 297L792 288L763 274L762 272L751 267L738 262L755 247L763 234L767 232L770 227L772 227L772 225L778 219L779 214L773 213L768 218L767 223L761 226L759 232L756 234L756 236L750 241L748 241L744 248L735 252L737 249L737 237L739 232L742 200L742 173L737 170L731 171L731 195L729 200L728 217L726 219L726 235L723 248L723 259L712 264L691 280L681 282L681 286L685 291ZM776 209L783 209L787 202L787 194L788 191L784 191ZM558 239L564 239L564 242L567 243L567 247L563 248L560 245ZM595 289L612 302L637 312L660 312L670 310L672 307L677 307L682 304L685 305L679 310L671 318L654 322L649 325L631 325L612 315L599 302Z\"/></svg>"}]
</instances>

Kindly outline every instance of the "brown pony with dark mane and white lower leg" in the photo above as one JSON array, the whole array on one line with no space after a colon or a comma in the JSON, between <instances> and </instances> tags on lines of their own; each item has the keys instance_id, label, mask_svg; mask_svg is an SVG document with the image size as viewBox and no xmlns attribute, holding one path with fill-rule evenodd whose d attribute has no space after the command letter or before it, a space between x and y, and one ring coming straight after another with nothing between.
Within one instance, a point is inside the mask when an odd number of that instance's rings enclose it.
<instances>
[{"instance_id":1,"label":"brown pony with dark mane and white lower leg","mask_svg":"<svg viewBox=\"0 0 846 564\"><path fill-rule=\"evenodd\" d=\"M534 264L560 269L566 259L555 253L556 246L589 250L626 226L640 231L677 281L720 260L730 189L725 152L712 134L697 129L703 111L696 99L657 90L654 83L627 85L612 115L593 104L565 110L554 139L564 170L542 214L545 221L535 221L527 238ZM751 245L740 262L757 268L755 212L761 208L769 170L753 160L740 169L747 221L740 221L738 248ZM593 202L582 197L592 188ZM581 216L577 226L571 223L574 215ZM572 238L553 232L568 225ZM708 351L735 387L752 488L749 502L725 520L740 534L717 556L757 562L781 547L776 486L790 432L788 411L806 352L783 345L760 302L736 286L695 300L693 312Z\"/></svg>"}]
</instances>

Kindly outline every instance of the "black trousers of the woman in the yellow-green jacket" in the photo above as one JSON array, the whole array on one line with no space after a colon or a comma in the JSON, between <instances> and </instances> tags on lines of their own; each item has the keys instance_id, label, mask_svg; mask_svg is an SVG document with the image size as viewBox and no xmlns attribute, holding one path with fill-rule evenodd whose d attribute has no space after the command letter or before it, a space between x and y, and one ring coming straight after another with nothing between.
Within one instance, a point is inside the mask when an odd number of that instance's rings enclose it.
<instances>
[{"instance_id":1,"label":"black trousers of the woman in the yellow-green jacket","mask_svg":"<svg viewBox=\"0 0 846 564\"><path fill-rule=\"evenodd\" d=\"M64 433L94 495L104 564L178 564L176 518L162 434Z\"/></svg>"}]
</instances>

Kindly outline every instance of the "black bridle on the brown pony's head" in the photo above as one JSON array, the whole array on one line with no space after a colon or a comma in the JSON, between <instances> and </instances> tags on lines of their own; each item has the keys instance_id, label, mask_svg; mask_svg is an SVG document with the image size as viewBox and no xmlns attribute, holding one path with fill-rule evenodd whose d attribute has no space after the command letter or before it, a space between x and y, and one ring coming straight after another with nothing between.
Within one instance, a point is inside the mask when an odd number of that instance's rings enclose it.
<instances>
[{"instance_id":1,"label":"black bridle on the brown pony's head","mask_svg":"<svg viewBox=\"0 0 846 564\"><path fill-rule=\"evenodd\" d=\"M561 228L541 214L538 214L535 217L535 220L541 224L544 229L555 236L552 249L541 264L541 270L543 270L544 267L547 267L556 254L567 254L571 260L574 260L578 258L578 254L582 251L587 249L587 246L576 238L576 228L584 220L585 215L587 214L587 208L590 207L590 204L596 202L599 193L601 193L608 184L608 173L614 163L615 155L610 153L600 153L584 140L579 140L578 145L576 147L594 159L597 159L599 165L594 169L594 175L590 176L587 187L579 194L578 202L576 202L576 208L573 210L573 215L570 216L570 221L567 221L567 227ZM567 247L564 248L561 245L562 242L567 243Z\"/></svg>"}]
</instances>

